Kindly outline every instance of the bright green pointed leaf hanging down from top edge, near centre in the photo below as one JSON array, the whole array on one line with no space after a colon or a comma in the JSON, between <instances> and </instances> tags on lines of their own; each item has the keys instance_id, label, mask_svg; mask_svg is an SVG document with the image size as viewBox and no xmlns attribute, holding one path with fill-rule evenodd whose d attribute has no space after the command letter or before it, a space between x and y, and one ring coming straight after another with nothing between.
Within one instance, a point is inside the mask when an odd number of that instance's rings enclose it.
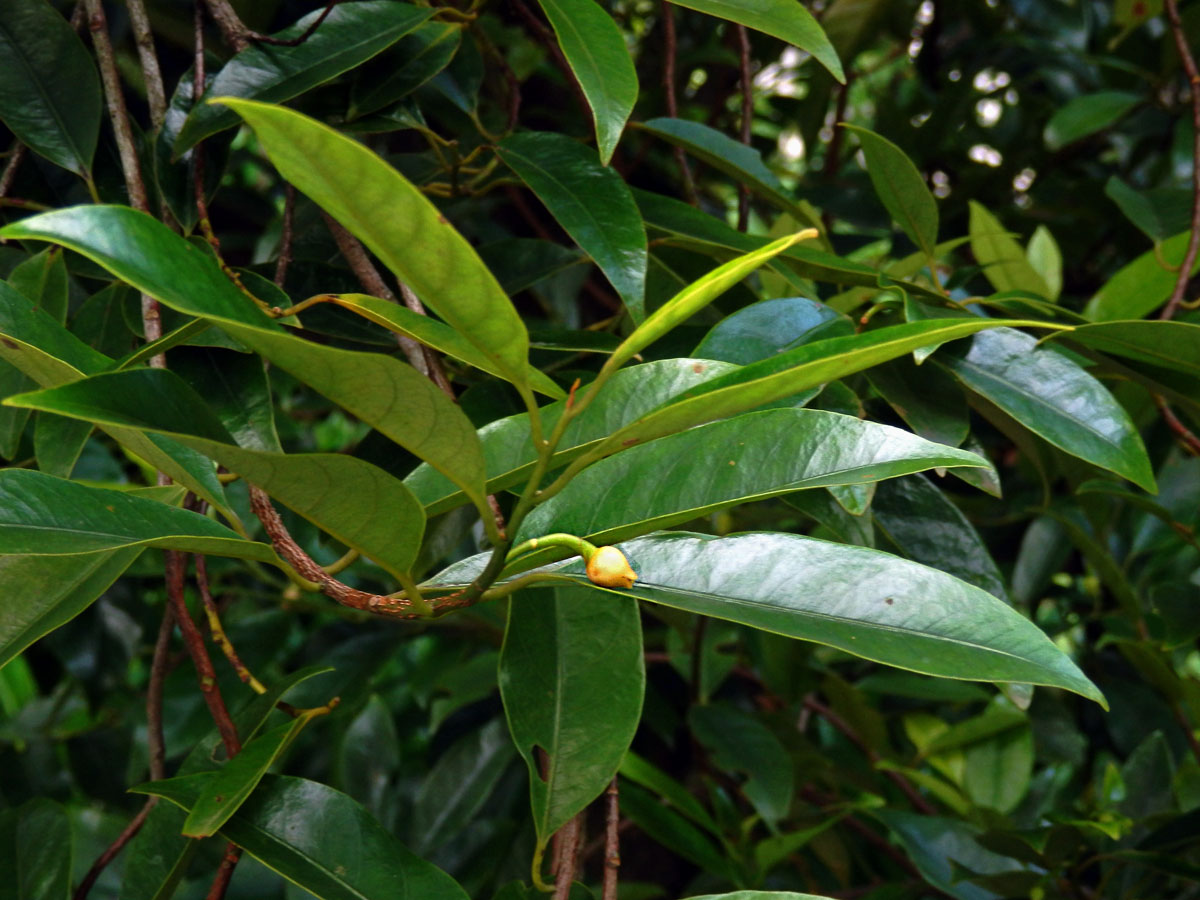
<instances>
[{"instance_id":1,"label":"bright green pointed leaf hanging down from top edge, near centre","mask_svg":"<svg viewBox=\"0 0 1200 900\"><path fill-rule=\"evenodd\" d=\"M538 2L592 107L600 162L607 166L637 102L637 71L625 36L595 0Z\"/></svg>"}]
</instances>

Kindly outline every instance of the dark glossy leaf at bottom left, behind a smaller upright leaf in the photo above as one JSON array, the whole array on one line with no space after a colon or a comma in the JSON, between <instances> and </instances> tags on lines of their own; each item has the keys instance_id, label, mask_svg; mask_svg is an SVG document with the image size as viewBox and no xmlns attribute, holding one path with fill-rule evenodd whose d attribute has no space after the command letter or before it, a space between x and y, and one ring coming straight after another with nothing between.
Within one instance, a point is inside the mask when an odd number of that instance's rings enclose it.
<instances>
[{"instance_id":1,"label":"dark glossy leaf at bottom left, behind a smaller upright leaf","mask_svg":"<svg viewBox=\"0 0 1200 900\"><path fill-rule=\"evenodd\" d=\"M215 776L133 790L191 809ZM358 803L316 781L266 775L221 834L320 900L467 900L449 875L413 856Z\"/></svg>"}]
</instances>

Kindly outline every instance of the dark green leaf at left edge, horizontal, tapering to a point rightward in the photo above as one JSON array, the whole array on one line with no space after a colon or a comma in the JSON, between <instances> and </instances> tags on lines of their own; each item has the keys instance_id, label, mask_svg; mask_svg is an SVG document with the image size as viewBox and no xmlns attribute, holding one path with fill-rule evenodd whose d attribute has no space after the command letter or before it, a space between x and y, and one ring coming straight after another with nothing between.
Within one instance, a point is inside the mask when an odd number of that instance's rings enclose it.
<instances>
[{"instance_id":1,"label":"dark green leaf at left edge, horizontal, tapering to a point rightward","mask_svg":"<svg viewBox=\"0 0 1200 900\"><path fill-rule=\"evenodd\" d=\"M0 470L0 553L67 556L122 547L280 564L268 545L245 540L196 512L31 469Z\"/></svg>"}]
</instances>

